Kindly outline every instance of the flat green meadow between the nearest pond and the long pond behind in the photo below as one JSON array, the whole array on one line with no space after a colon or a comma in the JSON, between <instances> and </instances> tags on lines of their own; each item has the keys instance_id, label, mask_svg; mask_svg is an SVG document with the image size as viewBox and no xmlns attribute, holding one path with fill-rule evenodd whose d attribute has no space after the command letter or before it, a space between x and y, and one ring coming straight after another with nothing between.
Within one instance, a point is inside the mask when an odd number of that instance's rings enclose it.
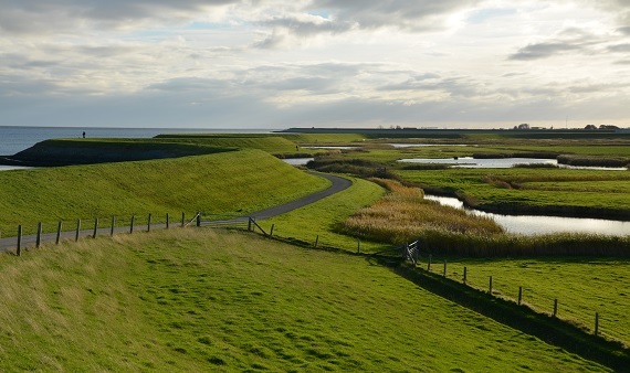
<instances>
[{"instance_id":1,"label":"flat green meadow between the nearest pond and the long pond behind","mask_svg":"<svg viewBox=\"0 0 630 373\"><path fill-rule=\"evenodd\" d=\"M594 211L628 211L630 173L624 171L566 169L448 169L401 170L405 179L426 190L442 190L464 196L473 205L516 209L517 205L589 207ZM514 188L506 185L513 184ZM585 189L589 183L590 189ZM601 193L600 189L607 193ZM531 185L531 188L529 188ZM561 185L561 188L560 188ZM605 215L606 213L602 213Z\"/></svg>"}]
</instances>

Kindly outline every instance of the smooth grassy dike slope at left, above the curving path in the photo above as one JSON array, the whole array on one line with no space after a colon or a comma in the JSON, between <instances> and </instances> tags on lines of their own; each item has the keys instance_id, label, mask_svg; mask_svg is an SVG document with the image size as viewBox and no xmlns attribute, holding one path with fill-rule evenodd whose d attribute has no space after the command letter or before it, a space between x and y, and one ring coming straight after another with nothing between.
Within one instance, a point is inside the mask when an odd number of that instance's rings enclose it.
<instances>
[{"instance_id":1,"label":"smooth grassy dike slope at left, above the curving path","mask_svg":"<svg viewBox=\"0 0 630 373\"><path fill-rule=\"evenodd\" d=\"M328 181L306 174L260 150L177 159L103 163L0 172L0 233L25 233L43 222L77 219L93 224L132 215L174 219L196 211L246 214L325 189ZM138 224L140 221L138 221Z\"/></svg>"}]
</instances>

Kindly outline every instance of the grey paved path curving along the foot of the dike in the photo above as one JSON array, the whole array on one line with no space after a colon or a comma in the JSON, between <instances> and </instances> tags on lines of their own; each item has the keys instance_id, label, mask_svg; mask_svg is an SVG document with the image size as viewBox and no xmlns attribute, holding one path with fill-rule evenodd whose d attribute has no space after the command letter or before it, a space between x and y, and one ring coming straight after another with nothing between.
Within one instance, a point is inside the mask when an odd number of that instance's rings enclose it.
<instances>
[{"instance_id":1,"label":"grey paved path curving along the foot of the dike","mask_svg":"<svg viewBox=\"0 0 630 373\"><path fill-rule=\"evenodd\" d=\"M303 196L298 200L292 201L292 202L287 202L285 204L281 204L277 206L273 206L263 211L259 211L252 214L249 214L246 216L242 216L239 219L233 219L233 220L229 220L229 221L222 221L220 223L223 224L228 224L228 223L238 223L238 222L246 222L250 217L254 219L254 220L263 220L263 219L269 219L269 217L273 217L273 216L277 216L281 214L284 214L286 212L293 211L295 209L300 209L303 207L305 205L308 205L311 203L317 202L326 196L333 195L335 193L338 193L347 188L349 188L353 182L350 180L344 179L344 178L339 178L339 177L334 177L332 174L325 174L325 173L315 173L315 172L308 172L311 174L321 177L321 178L325 178L330 180L330 182L333 183L328 189ZM103 224L106 224L105 222L102 222ZM88 227L92 225L92 228L88 230L81 230L78 233L78 237L92 237L94 235L94 221L92 222L82 222L84 227ZM209 225L211 224L210 222L203 222L203 225ZM179 226L180 223L178 222L172 222L171 226ZM219 224L220 225L220 224ZM66 232L62 232L61 233L61 241L64 239L76 239L76 222L65 222L64 223L64 227L71 227L74 226L73 231L66 231ZM134 227L134 230L136 232L139 231L147 231L148 226L147 225L136 225ZM150 226L151 231L153 230L162 230L166 228L166 224L151 224ZM15 228L17 230L17 228ZM116 227L114 230L114 233L128 233L130 231L129 226L122 226L122 227ZM109 235L112 233L112 228L111 227L102 227L98 228L96 231L96 235ZM46 243L46 242L54 242L56 239L56 232L55 233L45 233L42 234L41 236L41 242L42 243ZM27 247L33 247L35 246L36 243L36 235L25 235L22 236L22 249L27 248ZM0 238L0 252L3 251L12 251L14 252L18 247L18 237L7 237L7 238Z\"/></svg>"}]
</instances>

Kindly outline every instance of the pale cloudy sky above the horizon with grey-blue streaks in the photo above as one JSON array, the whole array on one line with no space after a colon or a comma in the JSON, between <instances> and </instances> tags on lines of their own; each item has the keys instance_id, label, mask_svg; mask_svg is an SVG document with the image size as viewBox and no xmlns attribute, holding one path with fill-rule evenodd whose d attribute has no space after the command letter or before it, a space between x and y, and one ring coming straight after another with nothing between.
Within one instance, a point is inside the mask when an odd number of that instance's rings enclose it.
<instances>
[{"instance_id":1,"label":"pale cloudy sky above the horizon with grey-blue streaks","mask_svg":"<svg viewBox=\"0 0 630 373\"><path fill-rule=\"evenodd\" d=\"M0 126L630 127L630 0L0 9Z\"/></svg>"}]
</instances>

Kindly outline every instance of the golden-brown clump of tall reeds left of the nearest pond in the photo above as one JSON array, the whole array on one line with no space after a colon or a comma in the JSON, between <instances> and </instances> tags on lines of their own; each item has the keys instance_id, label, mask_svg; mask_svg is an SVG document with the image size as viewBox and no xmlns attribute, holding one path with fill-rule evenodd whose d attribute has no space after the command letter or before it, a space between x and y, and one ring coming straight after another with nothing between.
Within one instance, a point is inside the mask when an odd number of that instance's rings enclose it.
<instances>
[{"instance_id":1,"label":"golden-brown clump of tall reeds left of the nearest pond","mask_svg":"<svg viewBox=\"0 0 630 373\"><path fill-rule=\"evenodd\" d=\"M389 193L348 217L340 226L342 232L391 244L417 239L431 231L473 235L503 232L491 219L424 200L419 188L405 186L392 180L374 181L387 188Z\"/></svg>"}]
</instances>

